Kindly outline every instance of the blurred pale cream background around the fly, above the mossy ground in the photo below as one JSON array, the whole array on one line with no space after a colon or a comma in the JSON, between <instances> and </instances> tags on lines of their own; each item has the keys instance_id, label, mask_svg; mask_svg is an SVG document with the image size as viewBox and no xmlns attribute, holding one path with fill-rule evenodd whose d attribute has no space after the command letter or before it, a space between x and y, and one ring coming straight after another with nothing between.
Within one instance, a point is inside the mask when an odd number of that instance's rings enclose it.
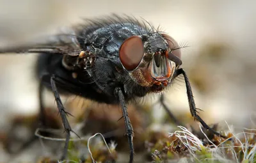
<instances>
[{"instance_id":1,"label":"blurred pale cream background around the fly, above the mossy ground","mask_svg":"<svg viewBox=\"0 0 256 163\"><path fill-rule=\"evenodd\" d=\"M111 13L148 20L180 45L189 45L182 49L182 67L189 75L196 107L204 110L200 115L205 122L255 127L255 1L0 0L0 47L31 42L83 18ZM12 116L38 113L35 60L36 54L0 56L3 130L7 130ZM173 84L166 95L166 104L174 113L189 114L183 81ZM51 93L45 97L47 104L54 105ZM161 121L163 109L154 105L152 110L155 121Z\"/></svg>"}]
</instances>

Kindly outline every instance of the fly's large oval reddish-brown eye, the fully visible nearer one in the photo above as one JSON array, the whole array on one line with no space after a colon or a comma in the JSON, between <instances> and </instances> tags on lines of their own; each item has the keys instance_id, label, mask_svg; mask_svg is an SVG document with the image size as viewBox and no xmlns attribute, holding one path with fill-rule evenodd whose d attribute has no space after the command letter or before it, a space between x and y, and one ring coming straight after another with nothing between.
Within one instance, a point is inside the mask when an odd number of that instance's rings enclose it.
<instances>
[{"instance_id":1,"label":"fly's large oval reddish-brown eye, the fully visible nearer one","mask_svg":"<svg viewBox=\"0 0 256 163\"><path fill-rule=\"evenodd\" d=\"M119 50L120 61L128 71L132 71L137 68L143 58L143 55L143 42L139 36L131 36L127 38Z\"/></svg>"}]
</instances>

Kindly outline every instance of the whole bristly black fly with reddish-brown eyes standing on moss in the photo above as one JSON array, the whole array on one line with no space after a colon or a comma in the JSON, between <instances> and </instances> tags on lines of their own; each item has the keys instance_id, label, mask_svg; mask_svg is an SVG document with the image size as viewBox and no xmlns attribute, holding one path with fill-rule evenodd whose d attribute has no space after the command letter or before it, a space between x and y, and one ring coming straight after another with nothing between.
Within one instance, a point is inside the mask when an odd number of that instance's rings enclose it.
<instances>
[{"instance_id":1,"label":"whole bristly black fly with reddish-brown eyes standing on moss","mask_svg":"<svg viewBox=\"0 0 256 163\"><path fill-rule=\"evenodd\" d=\"M54 93L67 132L61 160L67 155L70 132L73 130L59 92L120 105L130 148L129 162L133 162L134 157L133 130L125 103L136 97L145 97L148 93L164 91L179 75L184 76L191 115L204 128L221 136L198 116L188 76L180 68L180 47L171 36L154 29L148 22L139 22L131 17L114 15L111 19L88 22L53 36L49 42L0 49L0 53L41 54L36 65L40 79L40 112L44 115L42 88L45 86ZM180 124L164 105L163 95L160 102L173 121ZM42 122L44 124L44 118Z\"/></svg>"}]
</instances>

